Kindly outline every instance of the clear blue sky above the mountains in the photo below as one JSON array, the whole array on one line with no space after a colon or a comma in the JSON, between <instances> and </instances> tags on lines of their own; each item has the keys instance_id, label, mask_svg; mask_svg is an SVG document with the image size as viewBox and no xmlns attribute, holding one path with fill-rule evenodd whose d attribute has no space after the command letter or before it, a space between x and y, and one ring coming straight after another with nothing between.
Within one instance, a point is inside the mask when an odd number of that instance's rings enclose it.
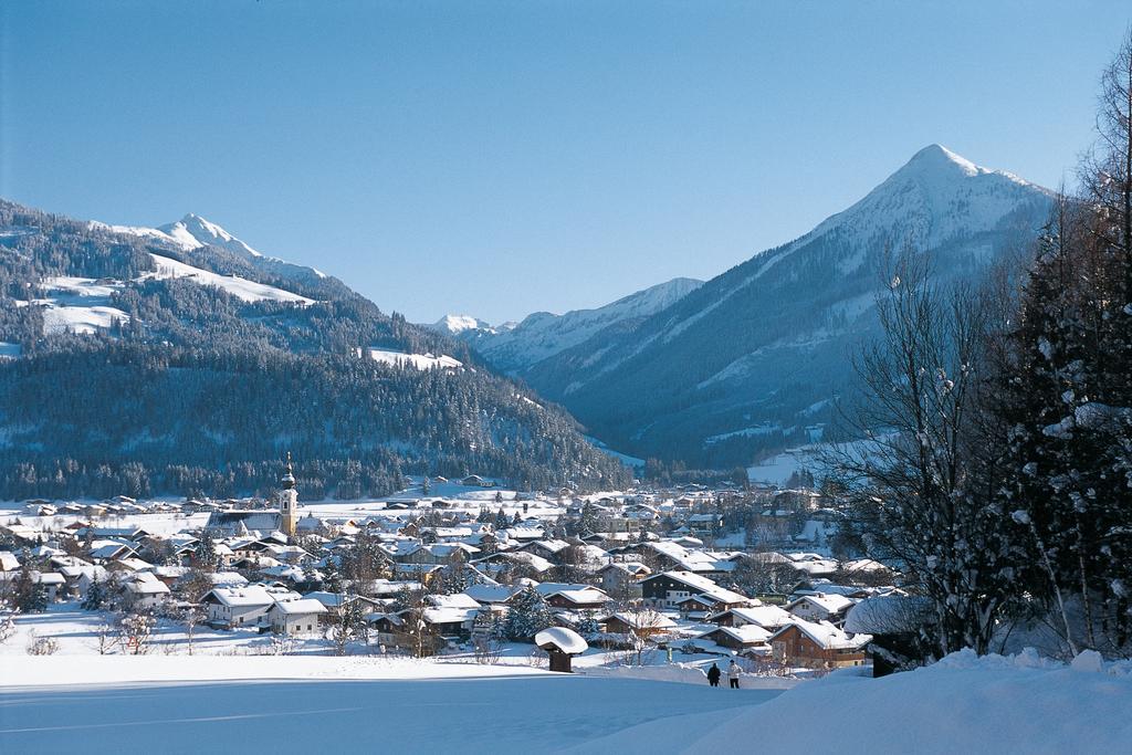
<instances>
[{"instance_id":1,"label":"clear blue sky above the mountains","mask_svg":"<svg viewBox=\"0 0 1132 755\"><path fill-rule=\"evenodd\" d=\"M986 7L992 6L992 7ZM1126 2L0 3L0 195L196 212L385 310L711 277L917 149L1056 185Z\"/></svg>"}]
</instances>

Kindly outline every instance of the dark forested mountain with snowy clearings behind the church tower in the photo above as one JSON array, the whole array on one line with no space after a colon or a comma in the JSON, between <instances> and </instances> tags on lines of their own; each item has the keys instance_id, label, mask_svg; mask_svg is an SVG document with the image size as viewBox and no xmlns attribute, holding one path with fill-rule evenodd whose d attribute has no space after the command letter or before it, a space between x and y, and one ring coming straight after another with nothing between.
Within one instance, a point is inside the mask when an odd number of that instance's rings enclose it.
<instances>
[{"instance_id":1,"label":"dark forested mountain with snowy clearings behind the church tower","mask_svg":"<svg viewBox=\"0 0 1132 755\"><path fill-rule=\"evenodd\" d=\"M197 215L158 229L0 200L0 499L264 490L408 473L619 484L573 419L462 342Z\"/></svg>"}]
</instances>

